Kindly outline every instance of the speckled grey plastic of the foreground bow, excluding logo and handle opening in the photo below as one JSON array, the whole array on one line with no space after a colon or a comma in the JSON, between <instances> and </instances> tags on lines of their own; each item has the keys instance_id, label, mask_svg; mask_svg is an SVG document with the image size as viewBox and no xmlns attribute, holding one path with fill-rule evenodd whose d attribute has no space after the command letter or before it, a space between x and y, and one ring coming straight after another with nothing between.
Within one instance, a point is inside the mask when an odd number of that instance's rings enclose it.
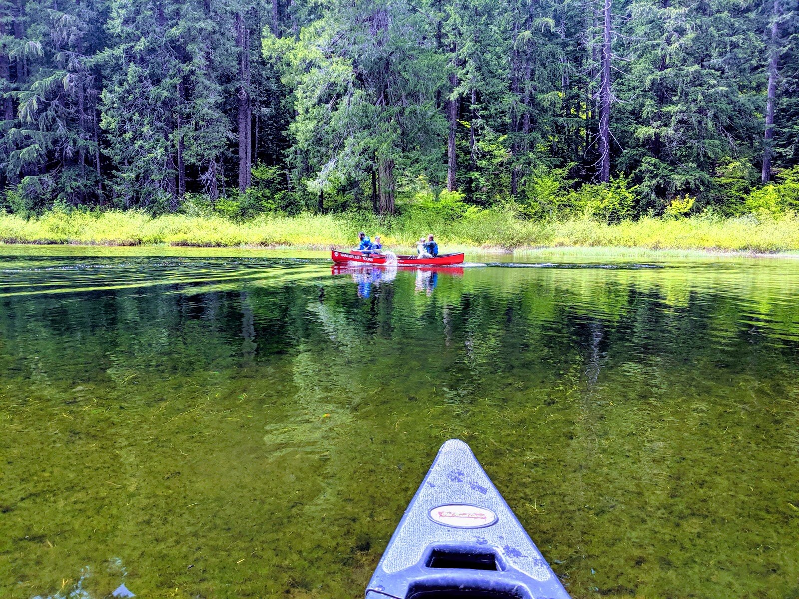
<instances>
[{"instance_id":1,"label":"speckled grey plastic of the foreground bow, excluding logo and handle opening","mask_svg":"<svg viewBox=\"0 0 799 599\"><path fill-rule=\"evenodd\" d=\"M495 522L491 523L494 518L490 515L483 517L483 521L476 520L475 526L487 522L480 527L460 528L433 522L429 516L431 510L447 504L487 508L496 515ZM388 543L368 590L388 597L406 597L409 579L415 573L430 582L429 577L435 570L425 566L431 546L436 545L452 548L460 545L465 553L470 549L488 550L499 554L505 562L505 572L463 569L453 573L442 570L449 581L461 577L466 588L490 589L495 580L513 573L520 585L527 583L533 597L569 597L469 446L457 439L441 446ZM403 574L407 569L412 571ZM526 577L531 580L525 581Z\"/></svg>"}]
</instances>

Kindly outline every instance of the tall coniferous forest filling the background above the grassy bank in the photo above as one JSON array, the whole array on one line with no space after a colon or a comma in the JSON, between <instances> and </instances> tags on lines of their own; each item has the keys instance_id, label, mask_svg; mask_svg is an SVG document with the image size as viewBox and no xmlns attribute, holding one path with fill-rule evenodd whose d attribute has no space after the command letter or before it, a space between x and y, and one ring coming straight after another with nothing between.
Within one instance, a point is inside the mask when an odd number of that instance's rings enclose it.
<instances>
[{"instance_id":1,"label":"tall coniferous forest filling the background above the grassy bank","mask_svg":"<svg viewBox=\"0 0 799 599\"><path fill-rule=\"evenodd\" d=\"M0 6L7 212L799 208L796 0Z\"/></svg>"}]
</instances>

